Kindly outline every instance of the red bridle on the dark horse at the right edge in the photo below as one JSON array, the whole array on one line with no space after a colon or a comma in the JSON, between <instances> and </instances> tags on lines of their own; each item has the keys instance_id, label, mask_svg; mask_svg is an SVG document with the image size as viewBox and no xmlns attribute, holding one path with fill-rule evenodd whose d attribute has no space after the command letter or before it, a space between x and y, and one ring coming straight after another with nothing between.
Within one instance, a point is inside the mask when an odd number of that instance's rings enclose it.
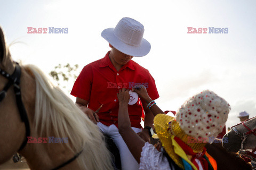
<instances>
[{"instance_id":1,"label":"red bridle on the dark horse at the right edge","mask_svg":"<svg viewBox=\"0 0 256 170\"><path fill-rule=\"evenodd\" d=\"M252 118L255 118L255 117L252 117ZM247 151L247 150L244 149L244 145L245 145L245 143L246 143L246 138L247 138L247 136L248 136L249 134L254 134L254 135L256 135L256 133L255 133L256 128L253 129L253 130L251 130L248 126L245 125L245 122L251 120L252 118L249 118L249 119L246 120L246 121L243 121L243 122L241 122L241 123L239 123L239 124L237 124L237 125L235 125L235 126L232 126L231 129L233 129L233 131L235 132L235 134L236 134L239 138L241 138L241 140L242 140L242 142L241 142L241 149L239 149L239 151L238 151L238 156L241 155L241 154L242 154L242 155L249 155L249 156L250 156L250 159L252 159L252 160L255 162L255 161L256 161L256 154L254 154L254 152L256 151L256 147L255 147L252 151ZM249 130L249 131L244 132L243 134L240 133L240 132L238 132L238 130L236 129L236 126L238 126L238 125L240 125L240 124L242 124L242 125L243 125L247 130Z\"/></svg>"}]
</instances>

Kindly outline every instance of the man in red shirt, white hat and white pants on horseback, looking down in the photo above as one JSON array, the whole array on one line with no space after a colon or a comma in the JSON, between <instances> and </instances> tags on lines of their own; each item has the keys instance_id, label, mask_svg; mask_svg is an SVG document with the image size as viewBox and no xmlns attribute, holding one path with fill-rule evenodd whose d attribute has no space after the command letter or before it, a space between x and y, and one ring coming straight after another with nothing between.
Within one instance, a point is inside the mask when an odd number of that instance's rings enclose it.
<instances>
[{"instance_id":1,"label":"man in red shirt, white hat and white pants on horseback, looking down","mask_svg":"<svg viewBox=\"0 0 256 170\"><path fill-rule=\"evenodd\" d=\"M121 156L122 169L138 169L139 164L133 158L121 135L118 133L118 98L119 89L132 89L137 84L147 88L154 100L159 97L155 80L147 69L131 59L133 56L145 56L150 51L150 44L143 38L143 25L131 18L123 18L115 28L102 31L111 51L104 58L86 65L79 74L71 95L76 97L76 104L97 123L103 133L114 139ZM141 101L135 92L131 92L129 116L132 129L142 139L149 141L154 116L145 101ZM103 104L99 113L95 113ZM145 129L141 130L141 115L145 111ZM136 145L136 141L134 141Z\"/></svg>"}]
</instances>

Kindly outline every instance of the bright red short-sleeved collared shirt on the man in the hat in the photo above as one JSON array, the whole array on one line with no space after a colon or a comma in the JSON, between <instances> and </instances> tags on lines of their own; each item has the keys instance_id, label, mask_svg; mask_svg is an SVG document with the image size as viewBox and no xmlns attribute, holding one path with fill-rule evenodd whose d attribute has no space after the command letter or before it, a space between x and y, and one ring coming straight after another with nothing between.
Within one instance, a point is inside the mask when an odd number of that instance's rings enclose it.
<instances>
[{"instance_id":1,"label":"bright red short-sleeved collared shirt on the man in the hat","mask_svg":"<svg viewBox=\"0 0 256 170\"><path fill-rule=\"evenodd\" d=\"M154 78L147 69L134 61L129 61L118 72L109 59L109 53L104 58L86 65L75 81L71 95L88 101L88 108L93 111L103 104L99 112L99 121L107 126L115 124L118 127L119 89L132 89L135 84L143 84L151 99L159 97ZM134 105L128 105L131 126L140 125L143 107L140 99Z\"/></svg>"}]
</instances>

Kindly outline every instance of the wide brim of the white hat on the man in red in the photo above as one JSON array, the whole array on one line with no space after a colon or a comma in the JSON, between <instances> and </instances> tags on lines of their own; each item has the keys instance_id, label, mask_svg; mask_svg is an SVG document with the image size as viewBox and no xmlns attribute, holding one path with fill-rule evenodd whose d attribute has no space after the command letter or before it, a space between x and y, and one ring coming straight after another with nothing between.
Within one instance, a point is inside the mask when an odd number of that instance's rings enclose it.
<instances>
[{"instance_id":1,"label":"wide brim of the white hat on the man in red","mask_svg":"<svg viewBox=\"0 0 256 170\"><path fill-rule=\"evenodd\" d=\"M142 38L140 46L132 46L123 43L113 32L114 28L107 28L101 32L101 37L120 52L134 57L142 57L150 52L151 45L146 39Z\"/></svg>"}]
</instances>

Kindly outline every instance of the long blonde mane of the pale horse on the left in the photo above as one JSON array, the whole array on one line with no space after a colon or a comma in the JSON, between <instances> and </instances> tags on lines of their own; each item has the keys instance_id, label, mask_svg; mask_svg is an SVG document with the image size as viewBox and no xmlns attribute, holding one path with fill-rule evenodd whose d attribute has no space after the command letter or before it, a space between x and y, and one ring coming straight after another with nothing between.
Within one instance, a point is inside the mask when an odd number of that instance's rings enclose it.
<instances>
[{"instance_id":1,"label":"long blonde mane of the pale horse on the left","mask_svg":"<svg viewBox=\"0 0 256 170\"><path fill-rule=\"evenodd\" d=\"M68 137L74 155L83 149L77 161L81 169L113 169L110 154L103 135L97 125L68 98L61 89L47 79L46 75L34 65L26 65L36 81L36 101L34 125L39 137Z\"/></svg>"}]
</instances>

